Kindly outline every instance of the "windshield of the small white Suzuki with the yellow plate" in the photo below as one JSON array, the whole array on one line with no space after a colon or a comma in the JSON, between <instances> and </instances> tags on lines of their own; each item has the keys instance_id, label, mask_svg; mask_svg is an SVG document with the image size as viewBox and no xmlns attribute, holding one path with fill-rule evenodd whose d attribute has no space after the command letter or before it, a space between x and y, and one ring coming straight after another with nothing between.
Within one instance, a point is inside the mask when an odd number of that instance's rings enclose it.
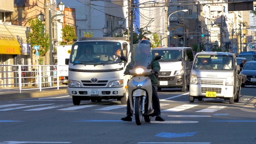
<instances>
[{"instance_id":1,"label":"windshield of the small white Suzuki with the yellow plate","mask_svg":"<svg viewBox=\"0 0 256 144\"><path fill-rule=\"evenodd\" d=\"M194 69L232 70L234 60L226 55L198 55L195 58Z\"/></svg>"}]
</instances>

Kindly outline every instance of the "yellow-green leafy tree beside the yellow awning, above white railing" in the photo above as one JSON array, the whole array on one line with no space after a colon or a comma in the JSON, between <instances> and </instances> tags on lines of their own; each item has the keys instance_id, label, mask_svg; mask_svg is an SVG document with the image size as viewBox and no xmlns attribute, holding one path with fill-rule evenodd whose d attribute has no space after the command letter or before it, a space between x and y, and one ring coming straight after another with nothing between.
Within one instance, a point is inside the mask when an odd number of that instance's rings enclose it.
<instances>
[{"instance_id":1,"label":"yellow-green leafy tree beside the yellow awning, above white railing","mask_svg":"<svg viewBox=\"0 0 256 144\"><path fill-rule=\"evenodd\" d=\"M44 24L38 18L31 18L28 20L31 32L28 32L27 42L31 44L32 54L36 54L36 50L33 49L34 46L39 46L39 64L42 65L43 58L46 52L50 49L49 34L46 34Z\"/></svg>"}]
</instances>

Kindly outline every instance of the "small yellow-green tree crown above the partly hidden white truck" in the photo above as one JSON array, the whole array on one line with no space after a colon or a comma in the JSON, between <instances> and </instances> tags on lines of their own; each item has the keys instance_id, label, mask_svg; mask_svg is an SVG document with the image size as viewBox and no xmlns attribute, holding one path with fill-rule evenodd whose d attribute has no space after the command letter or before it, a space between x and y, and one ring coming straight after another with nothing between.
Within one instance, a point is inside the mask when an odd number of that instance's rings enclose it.
<instances>
[{"instance_id":1,"label":"small yellow-green tree crown above the partly hidden white truck","mask_svg":"<svg viewBox=\"0 0 256 144\"><path fill-rule=\"evenodd\" d=\"M76 32L74 30L74 27L65 24L65 26L61 29L62 31L62 37L64 39L65 44L74 44L73 40L76 39ZM63 42L62 42L63 44Z\"/></svg>"}]
</instances>

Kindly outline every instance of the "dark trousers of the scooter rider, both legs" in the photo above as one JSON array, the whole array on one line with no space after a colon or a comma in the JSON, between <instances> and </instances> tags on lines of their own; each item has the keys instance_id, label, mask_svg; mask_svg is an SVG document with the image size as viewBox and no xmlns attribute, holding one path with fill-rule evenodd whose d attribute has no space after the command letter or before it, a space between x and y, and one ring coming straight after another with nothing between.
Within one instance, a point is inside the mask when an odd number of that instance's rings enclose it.
<instances>
[{"instance_id":1,"label":"dark trousers of the scooter rider, both legs","mask_svg":"<svg viewBox=\"0 0 256 144\"><path fill-rule=\"evenodd\" d=\"M161 115L160 101L159 101L159 98L158 98L157 87L156 86L152 86L152 102L153 102L153 107L154 107L154 114L156 116L160 116ZM129 98L127 100L126 116L132 116Z\"/></svg>"}]
</instances>

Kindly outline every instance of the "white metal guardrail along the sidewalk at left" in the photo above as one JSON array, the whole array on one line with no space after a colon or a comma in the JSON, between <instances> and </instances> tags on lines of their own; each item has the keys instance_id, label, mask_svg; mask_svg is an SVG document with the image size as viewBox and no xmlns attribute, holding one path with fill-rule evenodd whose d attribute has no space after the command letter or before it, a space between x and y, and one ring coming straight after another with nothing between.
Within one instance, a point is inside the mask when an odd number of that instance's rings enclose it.
<instances>
[{"instance_id":1,"label":"white metal guardrail along the sidewalk at left","mask_svg":"<svg viewBox=\"0 0 256 144\"><path fill-rule=\"evenodd\" d=\"M60 65L1 65L0 66L0 92L36 90L46 88L67 87L60 85L67 80L60 80L61 73L68 73ZM22 68L28 70L22 71ZM52 70L50 70L52 68ZM25 76L22 76L25 72Z\"/></svg>"}]
</instances>

